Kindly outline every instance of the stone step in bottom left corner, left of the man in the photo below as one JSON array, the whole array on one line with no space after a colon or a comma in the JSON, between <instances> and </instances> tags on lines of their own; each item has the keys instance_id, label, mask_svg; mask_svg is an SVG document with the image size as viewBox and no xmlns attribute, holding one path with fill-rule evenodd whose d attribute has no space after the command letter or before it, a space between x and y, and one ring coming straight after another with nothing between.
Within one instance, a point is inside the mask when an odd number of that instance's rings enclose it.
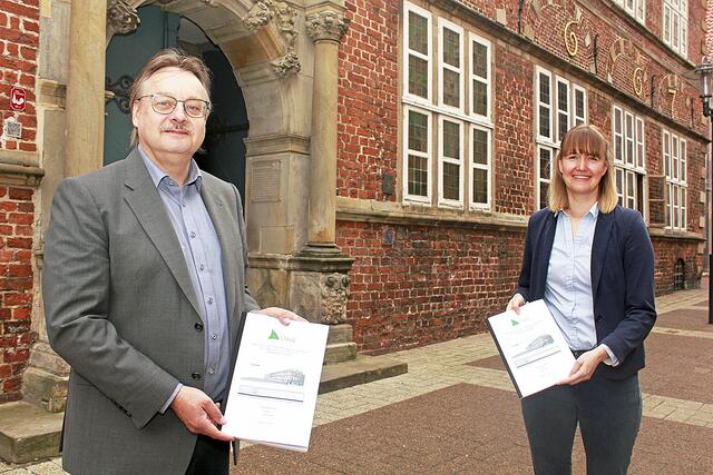
<instances>
[{"instance_id":1,"label":"stone step in bottom left corner, left of the man","mask_svg":"<svg viewBox=\"0 0 713 475\"><path fill-rule=\"evenodd\" d=\"M0 405L0 458L13 464L56 457L64 413L26 402Z\"/></svg>"}]
</instances>

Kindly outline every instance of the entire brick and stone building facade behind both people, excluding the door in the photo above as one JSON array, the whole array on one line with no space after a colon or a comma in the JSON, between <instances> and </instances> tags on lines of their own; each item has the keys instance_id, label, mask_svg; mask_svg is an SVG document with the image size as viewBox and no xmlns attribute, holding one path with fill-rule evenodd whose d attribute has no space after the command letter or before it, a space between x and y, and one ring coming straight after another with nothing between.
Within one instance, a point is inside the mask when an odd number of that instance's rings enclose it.
<instances>
[{"instance_id":1,"label":"entire brick and stone building facade behind both people, excluding the door","mask_svg":"<svg viewBox=\"0 0 713 475\"><path fill-rule=\"evenodd\" d=\"M243 88L251 286L261 303L299 310L334 294L325 311L345 316L325 321L350 324L364 353L485 330L515 288L527 218L546 200L559 137L582 121L613 141L622 204L642 211L652 235L657 291L700 285L707 127L692 70L705 53L704 1L325 2L349 20L342 37L312 28L313 2L293 2L285 14L275 2L108 0L107 44L130 30L121 21L136 28L136 9L149 3L199 26ZM72 8L81 11L70 24ZM42 230L59 179L101 165L101 127L91 127L104 118L104 69L85 75L92 90L77 86L82 75L72 86L68 67L105 37L92 9L0 0L0 402L28 398L29 375L45 372L33 385L52 395L36 398L51 410L61 409L53 402L67 368L43 329ZM96 38L72 50L72 28ZM334 215L341 260L328 256L328 265L301 254L320 236L304 211L320 185L309 159L323 130L310 127L329 120L296 112L318 87L306 67L324 61L320 41L338 48L336 151L320 157L335 161L336 178L320 197L335 199L324 212ZM105 61L94 58L82 67ZM26 92L23 111L11 110L13 87ZM99 103L94 116L89 99ZM8 120L21 123L20 139L8 136ZM280 188L257 196L257 169L273 178L279 170ZM348 275L349 293L319 287L319 273Z\"/></svg>"}]
</instances>

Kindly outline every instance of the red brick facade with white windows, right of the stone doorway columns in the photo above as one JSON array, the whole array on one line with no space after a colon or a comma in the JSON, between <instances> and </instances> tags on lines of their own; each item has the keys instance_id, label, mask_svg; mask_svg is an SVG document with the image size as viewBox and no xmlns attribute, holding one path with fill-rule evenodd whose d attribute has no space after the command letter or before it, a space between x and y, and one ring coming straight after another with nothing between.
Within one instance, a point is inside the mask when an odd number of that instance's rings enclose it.
<instances>
[{"instance_id":1,"label":"red brick facade with white windows, right of the stone doorway columns","mask_svg":"<svg viewBox=\"0 0 713 475\"><path fill-rule=\"evenodd\" d=\"M657 291L700 285L705 2L522 7L346 2L338 244L355 258L348 318L364 352L485 329L514 289L561 133L582 121L613 141Z\"/></svg>"}]
</instances>

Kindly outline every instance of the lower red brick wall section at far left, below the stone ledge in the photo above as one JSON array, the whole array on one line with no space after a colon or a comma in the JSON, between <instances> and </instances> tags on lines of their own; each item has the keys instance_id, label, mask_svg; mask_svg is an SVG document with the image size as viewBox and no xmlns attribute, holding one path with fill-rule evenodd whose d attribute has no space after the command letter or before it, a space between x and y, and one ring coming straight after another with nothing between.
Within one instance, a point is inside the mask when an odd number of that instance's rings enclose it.
<instances>
[{"instance_id":1,"label":"lower red brick wall section at far left, below the stone ledge","mask_svg":"<svg viewBox=\"0 0 713 475\"><path fill-rule=\"evenodd\" d=\"M0 402L21 397L20 386L35 333L30 188L0 187Z\"/></svg>"}]
</instances>

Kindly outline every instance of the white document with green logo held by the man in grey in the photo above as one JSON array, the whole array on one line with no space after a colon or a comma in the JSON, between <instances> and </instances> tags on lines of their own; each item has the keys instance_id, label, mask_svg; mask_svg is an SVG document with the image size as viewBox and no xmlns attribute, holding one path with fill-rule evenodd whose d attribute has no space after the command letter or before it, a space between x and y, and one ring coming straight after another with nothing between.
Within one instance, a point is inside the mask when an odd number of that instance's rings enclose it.
<instances>
[{"instance_id":1,"label":"white document with green logo held by the man in grey","mask_svg":"<svg viewBox=\"0 0 713 475\"><path fill-rule=\"evenodd\" d=\"M284 326L254 313L245 318L222 432L306 452L329 328L306 321Z\"/></svg>"}]
</instances>

